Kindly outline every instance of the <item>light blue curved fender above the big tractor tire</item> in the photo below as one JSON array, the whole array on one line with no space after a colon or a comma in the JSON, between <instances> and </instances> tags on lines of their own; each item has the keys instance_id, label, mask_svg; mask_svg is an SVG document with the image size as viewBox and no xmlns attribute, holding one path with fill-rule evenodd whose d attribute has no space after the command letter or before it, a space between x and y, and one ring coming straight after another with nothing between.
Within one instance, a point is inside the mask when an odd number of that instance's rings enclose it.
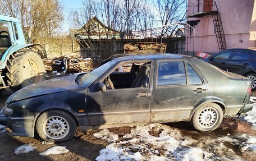
<instances>
[{"instance_id":1,"label":"light blue curved fender above the big tractor tire","mask_svg":"<svg viewBox=\"0 0 256 161\"><path fill-rule=\"evenodd\" d=\"M10 58L11 54L17 52L20 49L30 48L40 55L41 58L47 58L45 49L40 44L26 44L26 45L12 45L3 54L0 62L0 70L6 68L7 60Z\"/></svg>"}]
</instances>

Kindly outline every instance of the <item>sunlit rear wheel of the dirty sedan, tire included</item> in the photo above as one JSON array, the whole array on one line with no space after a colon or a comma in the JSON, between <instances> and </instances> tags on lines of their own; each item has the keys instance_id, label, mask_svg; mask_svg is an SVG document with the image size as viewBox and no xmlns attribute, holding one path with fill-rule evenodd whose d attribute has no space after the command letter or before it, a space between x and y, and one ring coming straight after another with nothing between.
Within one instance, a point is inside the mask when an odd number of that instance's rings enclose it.
<instances>
[{"instance_id":1,"label":"sunlit rear wheel of the dirty sedan, tire included","mask_svg":"<svg viewBox=\"0 0 256 161\"><path fill-rule=\"evenodd\" d=\"M216 103L205 103L200 105L190 120L191 125L200 132L213 131L221 125L223 111Z\"/></svg>"}]
</instances>

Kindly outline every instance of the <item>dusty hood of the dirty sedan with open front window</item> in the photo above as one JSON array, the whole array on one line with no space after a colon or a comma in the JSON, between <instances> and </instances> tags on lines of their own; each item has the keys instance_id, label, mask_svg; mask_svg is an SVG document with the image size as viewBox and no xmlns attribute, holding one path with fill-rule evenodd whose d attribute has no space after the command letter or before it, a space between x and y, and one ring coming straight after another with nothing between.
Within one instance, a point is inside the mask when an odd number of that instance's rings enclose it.
<instances>
[{"instance_id":1,"label":"dusty hood of the dirty sedan with open front window","mask_svg":"<svg viewBox=\"0 0 256 161\"><path fill-rule=\"evenodd\" d=\"M76 84L76 77L77 75L58 77L26 86L25 88L22 88L9 96L9 98L6 100L6 104L34 96L79 89L81 87Z\"/></svg>"}]
</instances>

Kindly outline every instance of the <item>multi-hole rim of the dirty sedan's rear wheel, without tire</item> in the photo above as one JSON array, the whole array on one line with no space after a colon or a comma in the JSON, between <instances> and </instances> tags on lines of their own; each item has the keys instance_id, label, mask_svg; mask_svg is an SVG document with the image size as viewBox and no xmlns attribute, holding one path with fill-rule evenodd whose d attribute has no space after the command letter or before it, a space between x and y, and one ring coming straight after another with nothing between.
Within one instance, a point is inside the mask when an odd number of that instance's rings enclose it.
<instances>
[{"instance_id":1,"label":"multi-hole rim of the dirty sedan's rear wheel, without tire","mask_svg":"<svg viewBox=\"0 0 256 161\"><path fill-rule=\"evenodd\" d=\"M202 128L211 128L216 125L218 117L216 109L211 107L205 108L199 113L198 124Z\"/></svg>"}]
</instances>

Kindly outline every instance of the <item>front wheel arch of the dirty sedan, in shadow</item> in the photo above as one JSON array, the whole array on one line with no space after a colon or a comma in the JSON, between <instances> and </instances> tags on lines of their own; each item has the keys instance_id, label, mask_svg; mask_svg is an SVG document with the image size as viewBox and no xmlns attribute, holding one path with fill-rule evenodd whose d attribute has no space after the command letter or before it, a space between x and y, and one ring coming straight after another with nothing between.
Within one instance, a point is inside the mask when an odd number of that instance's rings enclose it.
<instances>
[{"instance_id":1,"label":"front wheel arch of the dirty sedan, in shadow","mask_svg":"<svg viewBox=\"0 0 256 161\"><path fill-rule=\"evenodd\" d=\"M65 103L60 103L60 102L51 102L51 104L42 104L40 107L36 109L35 112L35 117L34 117L34 122L33 122L33 127L35 127L36 120L45 111L48 111L50 109L61 109L63 111L66 111L67 113L71 114L75 119L78 125L80 126L79 120L76 117L75 112Z\"/></svg>"}]
</instances>

